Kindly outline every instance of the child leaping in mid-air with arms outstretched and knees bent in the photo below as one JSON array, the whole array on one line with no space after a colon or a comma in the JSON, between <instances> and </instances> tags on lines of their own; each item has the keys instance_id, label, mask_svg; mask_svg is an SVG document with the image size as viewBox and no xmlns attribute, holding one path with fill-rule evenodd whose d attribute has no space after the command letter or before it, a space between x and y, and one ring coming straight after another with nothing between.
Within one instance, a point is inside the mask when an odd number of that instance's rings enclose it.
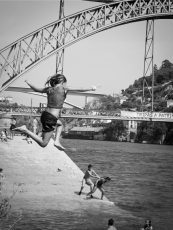
<instances>
[{"instance_id":1,"label":"child leaping in mid-air with arms outstretched and knees bent","mask_svg":"<svg viewBox=\"0 0 173 230\"><path fill-rule=\"evenodd\" d=\"M25 81L31 89L35 92L46 93L47 94L47 108L42 112L40 120L42 123L42 135L37 135L26 128L25 125L17 127L13 130L17 130L25 133L35 140L41 147L46 147L49 143L52 134L56 129L56 136L54 146L60 150L65 150L65 148L60 144L59 138L62 131L62 123L58 120L60 116L61 109L63 108L63 103L66 99L66 95L71 91L86 92L97 89L96 86L91 86L91 88L72 88L66 86L67 79L63 74L54 74L45 83L45 88L39 88L34 86L28 80ZM48 87L46 87L48 85Z\"/></svg>"}]
</instances>

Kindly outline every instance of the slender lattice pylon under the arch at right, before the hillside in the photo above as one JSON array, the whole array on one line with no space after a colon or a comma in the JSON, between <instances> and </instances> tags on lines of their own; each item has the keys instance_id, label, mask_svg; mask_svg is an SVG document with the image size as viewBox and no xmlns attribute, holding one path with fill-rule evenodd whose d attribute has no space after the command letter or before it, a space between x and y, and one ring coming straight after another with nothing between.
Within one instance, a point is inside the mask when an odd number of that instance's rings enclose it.
<instances>
[{"instance_id":1,"label":"slender lattice pylon under the arch at right, before the hillside","mask_svg":"<svg viewBox=\"0 0 173 230\"><path fill-rule=\"evenodd\" d=\"M150 89L147 82L147 76L152 75L152 88ZM146 37L145 37L145 56L144 56L144 72L143 72L143 94L142 94L142 111L145 101L145 88L148 88L151 95L151 111L153 112L154 102L154 19L147 20Z\"/></svg>"}]
</instances>

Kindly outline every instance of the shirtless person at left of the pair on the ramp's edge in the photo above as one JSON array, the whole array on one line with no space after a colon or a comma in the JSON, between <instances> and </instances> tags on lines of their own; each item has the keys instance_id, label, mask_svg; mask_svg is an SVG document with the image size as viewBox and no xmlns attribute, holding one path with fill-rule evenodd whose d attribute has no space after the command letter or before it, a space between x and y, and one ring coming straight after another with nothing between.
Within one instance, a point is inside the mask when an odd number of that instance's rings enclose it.
<instances>
[{"instance_id":1,"label":"shirtless person at left of the pair on the ramp's edge","mask_svg":"<svg viewBox=\"0 0 173 230\"><path fill-rule=\"evenodd\" d=\"M94 184L93 184L92 180L90 179L91 177L97 178L97 179L100 178L100 177L95 173L95 171L92 169L92 165L88 165L88 169L87 169L87 171L85 172L85 175L84 175L83 180L82 180L82 186L81 186L79 195L81 195L82 190L83 190L83 188L85 187L85 184L87 184L88 186L90 186L90 191L92 192L92 189L93 189L93 185L94 185ZM91 195L91 196L92 196L92 195Z\"/></svg>"}]
</instances>

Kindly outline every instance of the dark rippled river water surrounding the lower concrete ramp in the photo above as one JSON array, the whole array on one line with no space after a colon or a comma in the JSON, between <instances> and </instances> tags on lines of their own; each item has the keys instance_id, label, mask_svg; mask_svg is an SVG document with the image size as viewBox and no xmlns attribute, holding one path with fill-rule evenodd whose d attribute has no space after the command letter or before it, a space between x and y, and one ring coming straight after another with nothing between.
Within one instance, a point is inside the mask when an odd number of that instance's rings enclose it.
<instances>
[{"instance_id":1,"label":"dark rippled river water surrounding the lower concrete ramp","mask_svg":"<svg viewBox=\"0 0 173 230\"><path fill-rule=\"evenodd\" d=\"M106 197L115 207L24 213L13 229L106 230L113 218L118 230L139 230L151 218L154 230L173 230L173 146L67 139L61 143L76 148L66 153L83 172L92 164L98 175L112 178L105 185Z\"/></svg>"}]
</instances>

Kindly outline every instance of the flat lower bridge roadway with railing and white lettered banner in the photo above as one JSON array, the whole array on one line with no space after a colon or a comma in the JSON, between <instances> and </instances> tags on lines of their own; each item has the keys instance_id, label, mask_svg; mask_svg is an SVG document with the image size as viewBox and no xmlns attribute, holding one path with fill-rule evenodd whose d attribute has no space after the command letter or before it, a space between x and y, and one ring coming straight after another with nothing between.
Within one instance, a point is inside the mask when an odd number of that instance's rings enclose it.
<instances>
[{"instance_id":1,"label":"flat lower bridge roadway with railing and white lettered banner","mask_svg":"<svg viewBox=\"0 0 173 230\"><path fill-rule=\"evenodd\" d=\"M0 108L0 115L12 116L35 116L40 117L45 108L18 107ZM173 113L164 112L131 112L131 111L108 111L108 110L80 110L63 108L62 118L94 119L94 120L126 120L126 121L157 121L173 122Z\"/></svg>"}]
</instances>

